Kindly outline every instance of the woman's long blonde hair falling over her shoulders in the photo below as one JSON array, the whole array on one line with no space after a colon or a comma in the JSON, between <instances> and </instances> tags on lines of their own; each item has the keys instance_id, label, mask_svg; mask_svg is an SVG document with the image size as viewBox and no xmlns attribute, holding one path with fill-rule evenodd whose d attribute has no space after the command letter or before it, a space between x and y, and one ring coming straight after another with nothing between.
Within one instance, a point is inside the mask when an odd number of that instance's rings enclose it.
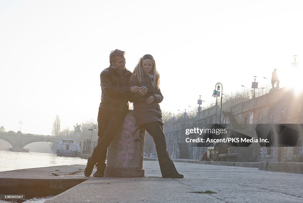
<instances>
[{"instance_id":1,"label":"woman's long blonde hair falling over her shoulders","mask_svg":"<svg viewBox=\"0 0 303 203\"><path fill-rule=\"evenodd\" d=\"M144 60L144 59L151 59L152 60L153 67L152 67L150 73L146 72L142 68L142 60ZM139 58L138 64L136 65L136 67L133 71L133 75L130 77L130 81L133 80L135 78L135 76L137 75L138 81L141 83L143 81L143 76L146 75L146 74L151 76L151 83L153 85L153 88L158 90L159 85L160 85L160 75L159 75L159 73L157 71L157 68L156 68L155 59L150 54L145 54L142 58Z\"/></svg>"}]
</instances>

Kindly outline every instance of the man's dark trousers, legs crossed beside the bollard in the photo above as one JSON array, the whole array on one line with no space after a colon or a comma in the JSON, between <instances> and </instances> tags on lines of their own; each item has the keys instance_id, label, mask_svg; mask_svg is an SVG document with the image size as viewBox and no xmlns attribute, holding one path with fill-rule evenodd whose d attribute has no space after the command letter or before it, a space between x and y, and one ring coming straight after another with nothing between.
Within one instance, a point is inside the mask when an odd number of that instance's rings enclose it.
<instances>
[{"instance_id":1,"label":"man's dark trousers, legs crossed beside the bollard","mask_svg":"<svg viewBox=\"0 0 303 203\"><path fill-rule=\"evenodd\" d=\"M126 112L99 109L98 112L98 144L95 147L89 164L104 170L107 148L120 130Z\"/></svg>"}]
</instances>

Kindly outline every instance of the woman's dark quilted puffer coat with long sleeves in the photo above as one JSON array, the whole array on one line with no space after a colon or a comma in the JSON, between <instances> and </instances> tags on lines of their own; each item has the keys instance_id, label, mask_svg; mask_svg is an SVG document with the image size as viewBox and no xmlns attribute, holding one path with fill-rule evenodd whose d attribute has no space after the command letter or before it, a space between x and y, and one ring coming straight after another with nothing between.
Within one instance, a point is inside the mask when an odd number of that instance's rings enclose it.
<instances>
[{"instance_id":1,"label":"woman's dark quilted puffer coat with long sleeves","mask_svg":"<svg viewBox=\"0 0 303 203\"><path fill-rule=\"evenodd\" d=\"M130 102L133 102L134 105L134 116L137 120L137 124L139 126L151 123L151 122L160 122L161 125L163 125L162 120L162 111L160 108L159 103L163 100L163 96L161 94L160 89L153 89L151 84L151 79L149 76L145 75L144 79L140 83L138 81L137 75L135 75L134 78L131 79L131 81L128 83L129 87L132 86L138 86L142 87L145 86L147 89L147 93L143 95L142 97L139 96L139 93L133 93L131 92L129 94L128 100ZM155 95L155 101L153 101L151 104L146 104L145 101L148 99L151 95Z\"/></svg>"}]
</instances>

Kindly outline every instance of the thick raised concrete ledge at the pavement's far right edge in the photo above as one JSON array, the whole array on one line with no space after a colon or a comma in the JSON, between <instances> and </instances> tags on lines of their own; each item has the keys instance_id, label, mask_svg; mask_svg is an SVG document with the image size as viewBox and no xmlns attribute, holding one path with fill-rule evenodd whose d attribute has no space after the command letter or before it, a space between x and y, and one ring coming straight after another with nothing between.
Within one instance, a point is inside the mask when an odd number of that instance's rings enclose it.
<instances>
[{"instance_id":1,"label":"thick raised concrete ledge at the pavement's far right edge","mask_svg":"<svg viewBox=\"0 0 303 203\"><path fill-rule=\"evenodd\" d=\"M303 173L303 163L297 162L259 162L259 170L288 173Z\"/></svg>"}]
</instances>

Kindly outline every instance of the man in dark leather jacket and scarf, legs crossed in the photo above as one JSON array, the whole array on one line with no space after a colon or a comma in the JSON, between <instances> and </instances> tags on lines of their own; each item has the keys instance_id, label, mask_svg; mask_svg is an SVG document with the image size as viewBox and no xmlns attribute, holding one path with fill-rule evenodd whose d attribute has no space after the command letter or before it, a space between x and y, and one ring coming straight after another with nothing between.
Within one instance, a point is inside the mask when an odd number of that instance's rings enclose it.
<instances>
[{"instance_id":1,"label":"man in dark leather jacket and scarf, legs crossed","mask_svg":"<svg viewBox=\"0 0 303 203\"><path fill-rule=\"evenodd\" d=\"M132 73L125 68L124 54L125 52L119 49L112 51L109 55L110 66L100 74L102 94L98 112L99 138L92 156L87 160L85 176L92 174L97 162L94 177L104 176L107 148L121 127L128 111L128 93L136 93L140 89L138 86L127 87Z\"/></svg>"}]
</instances>

